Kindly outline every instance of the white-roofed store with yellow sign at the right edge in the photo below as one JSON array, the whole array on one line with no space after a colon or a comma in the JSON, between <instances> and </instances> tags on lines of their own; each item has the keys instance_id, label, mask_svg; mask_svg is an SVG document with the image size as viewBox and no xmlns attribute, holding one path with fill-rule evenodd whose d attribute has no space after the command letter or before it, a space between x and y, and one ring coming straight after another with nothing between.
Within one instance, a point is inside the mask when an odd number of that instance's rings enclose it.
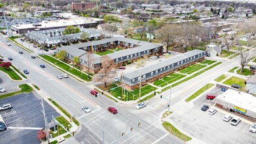
<instances>
[{"instance_id":1,"label":"white-roofed store with yellow sign at the right edge","mask_svg":"<svg viewBox=\"0 0 256 144\"><path fill-rule=\"evenodd\" d=\"M214 101L217 107L239 114L241 117L256 120L256 97L251 94L229 88Z\"/></svg>"}]
</instances>

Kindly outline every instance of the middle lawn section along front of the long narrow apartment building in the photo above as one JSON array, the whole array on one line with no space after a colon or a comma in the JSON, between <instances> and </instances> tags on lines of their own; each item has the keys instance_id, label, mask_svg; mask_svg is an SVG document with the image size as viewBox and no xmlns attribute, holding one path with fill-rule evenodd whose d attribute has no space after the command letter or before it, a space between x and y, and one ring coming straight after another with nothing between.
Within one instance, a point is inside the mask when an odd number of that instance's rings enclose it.
<instances>
[{"instance_id":1,"label":"middle lawn section along front of the long narrow apartment building","mask_svg":"<svg viewBox=\"0 0 256 144\"><path fill-rule=\"evenodd\" d=\"M185 75L181 75L179 73L172 73L171 75L168 75L167 77L163 77L161 80L157 80L154 82L154 85L156 86L166 86L166 84L170 84L172 82L178 81L179 79L182 79L185 77Z\"/></svg>"}]
</instances>

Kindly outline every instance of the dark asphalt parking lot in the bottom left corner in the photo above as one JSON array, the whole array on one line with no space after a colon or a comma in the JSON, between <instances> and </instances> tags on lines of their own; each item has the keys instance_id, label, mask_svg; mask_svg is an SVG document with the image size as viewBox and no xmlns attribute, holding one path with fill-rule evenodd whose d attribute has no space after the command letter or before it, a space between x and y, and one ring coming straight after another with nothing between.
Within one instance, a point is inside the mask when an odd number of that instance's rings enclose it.
<instances>
[{"instance_id":1,"label":"dark asphalt parking lot in the bottom left corner","mask_svg":"<svg viewBox=\"0 0 256 144\"><path fill-rule=\"evenodd\" d=\"M45 127L45 121L40 97L33 93L19 94L1 99L0 105L6 103L10 103L12 109L0 112L8 128L0 132L0 143L41 143L37 132ZM51 122L52 115L60 116L48 103L44 104L48 122Z\"/></svg>"}]
</instances>

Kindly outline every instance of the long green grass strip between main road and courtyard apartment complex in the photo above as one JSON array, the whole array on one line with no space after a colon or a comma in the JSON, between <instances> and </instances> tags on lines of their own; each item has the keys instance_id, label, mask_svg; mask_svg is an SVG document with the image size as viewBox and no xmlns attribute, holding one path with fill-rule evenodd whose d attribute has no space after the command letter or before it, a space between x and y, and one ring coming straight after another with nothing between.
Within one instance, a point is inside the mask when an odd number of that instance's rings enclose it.
<instances>
[{"instance_id":1,"label":"long green grass strip between main road and courtyard apartment complex","mask_svg":"<svg viewBox=\"0 0 256 144\"><path fill-rule=\"evenodd\" d=\"M58 67L64 69L65 71L68 71L69 73L72 73L73 75L76 75L77 77L83 79L84 81L92 81L92 77L88 79L88 75L82 73L81 77L81 71L78 71L77 69L70 68L70 65L67 65L64 62L60 62L59 60L56 60L55 58L52 58L47 55L40 55L41 58L44 58L48 62L52 63L53 65L57 65Z\"/></svg>"}]
</instances>

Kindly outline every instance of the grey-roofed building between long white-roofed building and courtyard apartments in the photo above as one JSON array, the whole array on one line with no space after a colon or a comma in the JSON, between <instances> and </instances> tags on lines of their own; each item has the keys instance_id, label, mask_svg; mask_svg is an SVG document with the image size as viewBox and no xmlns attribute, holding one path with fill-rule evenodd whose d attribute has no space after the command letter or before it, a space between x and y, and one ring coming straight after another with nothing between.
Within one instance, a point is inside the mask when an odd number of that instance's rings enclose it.
<instances>
[{"instance_id":1,"label":"grey-roofed building between long white-roofed building and courtyard apartments","mask_svg":"<svg viewBox=\"0 0 256 144\"><path fill-rule=\"evenodd\" d=\"M74 33L69 35L63 35L65 28L60 29L49 29L43 31L30 31L25 33L26 38L29 41L33 41L41 46L52 47L60 46L67 43L77 43L81 41L81 34L88 33L90 40L97 40L101 37L101 31L98 29L90 28L85 29L79 27L80 33Z\"/></svg>"}]
</instances>

